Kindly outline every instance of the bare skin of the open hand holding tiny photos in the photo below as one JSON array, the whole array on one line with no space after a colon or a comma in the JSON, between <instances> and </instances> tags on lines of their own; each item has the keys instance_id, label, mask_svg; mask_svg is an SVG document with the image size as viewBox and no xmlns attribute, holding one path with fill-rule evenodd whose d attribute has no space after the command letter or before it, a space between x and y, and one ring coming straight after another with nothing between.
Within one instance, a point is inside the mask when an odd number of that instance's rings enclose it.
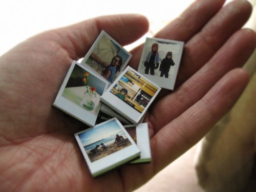
<instances>
[{"instance_id":1,"label":"bare skin of the open hand holding tiny photos","mask_svg":"<svg viewBox=\"0 0 256 192\"><path fill-rule=\"evenodd\" d=\"M3 55L0 191L131 191L197 143L243 92L248 73L241 67L256 45L255 33L241 29L251 6L223 3L196 1L155 35L185 47L175 91L162 90L144 120L152 163L124 165L97 179L73 135L84 125L52 103L72 60L86 55L101 30L124 46L148 30L146 18L94 18L31 37ZM135 69L141 52L142 46L132 51Z\"/></svg>"}]
</instances>

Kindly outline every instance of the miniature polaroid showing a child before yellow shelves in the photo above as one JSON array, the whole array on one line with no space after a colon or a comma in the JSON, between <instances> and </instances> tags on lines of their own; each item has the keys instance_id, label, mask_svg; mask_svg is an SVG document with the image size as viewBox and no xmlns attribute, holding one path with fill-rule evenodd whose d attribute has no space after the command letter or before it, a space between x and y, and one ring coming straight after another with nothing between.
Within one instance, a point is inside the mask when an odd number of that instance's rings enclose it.
<instances>
[{"instance_id":1,"label":"miniature polaroid showing a child before yellow shelves","mask_svg":"<svg viewBox=\"0 0 256 192\"><path fill-rule=\"evenodd\" d=\"M137 124L160 90L157 84L128 66L100 100L132 124Z\"/></svg>"}]
</instances>

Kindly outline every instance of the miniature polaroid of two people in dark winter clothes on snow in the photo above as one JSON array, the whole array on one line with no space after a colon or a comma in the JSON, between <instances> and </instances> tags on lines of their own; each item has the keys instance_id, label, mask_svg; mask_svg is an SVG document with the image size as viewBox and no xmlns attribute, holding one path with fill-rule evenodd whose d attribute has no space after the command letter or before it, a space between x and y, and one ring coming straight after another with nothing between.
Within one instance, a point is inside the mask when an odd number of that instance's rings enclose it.
<instances>
[{"instance_id":1,"label":"miniature polaroid of two people in dark winter clothes on snow","mask_svg":"<svg viewBox=\"0 0 256 192\"><path fill-rule=\"evenodd\" d=\"M173 90L184 42L146 38L138 72L164 89Z\"/></svg>"}]
</instances>

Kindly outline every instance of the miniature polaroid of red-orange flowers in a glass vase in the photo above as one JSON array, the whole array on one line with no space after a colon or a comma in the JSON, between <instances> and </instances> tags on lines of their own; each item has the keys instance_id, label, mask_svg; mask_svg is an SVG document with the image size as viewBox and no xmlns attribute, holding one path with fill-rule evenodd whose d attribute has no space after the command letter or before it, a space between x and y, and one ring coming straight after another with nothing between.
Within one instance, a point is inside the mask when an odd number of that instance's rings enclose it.
<instances>
[{"instance_id":1,"label":"miniature polaroid of red-orange flowers in a glass vase","mask_svg":"<svg viewBox=\"0 0 256 192\"><path fill-rule=\"evenodd\" d=\"M73 61L53 106L89 126L94 126L102 104L100 96L106 91L108 84L108 81L100 78L94 71Z\"/></svg>"}]
</instances>

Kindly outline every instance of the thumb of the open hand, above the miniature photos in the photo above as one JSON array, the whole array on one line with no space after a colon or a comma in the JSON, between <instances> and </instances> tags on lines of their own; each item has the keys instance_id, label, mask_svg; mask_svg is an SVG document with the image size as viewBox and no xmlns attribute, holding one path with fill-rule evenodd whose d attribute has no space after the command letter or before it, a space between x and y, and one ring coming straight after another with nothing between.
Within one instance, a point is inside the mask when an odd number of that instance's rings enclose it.
<instances>
[{"instance_id":1,"label":"thumb of the open hand, above the miniature photos","mask_svg":"<svg viewBox=\"0 0 256 192\"><path fill-rule=\"evenodd\" d=\"M41 38L52 38L68 51L73 60L77 60L86 55L102 30L125 46L148 31L148 20L137 14L101 16L52 30L51 35L47 32Z\"/></svg>"}]
</instances>

